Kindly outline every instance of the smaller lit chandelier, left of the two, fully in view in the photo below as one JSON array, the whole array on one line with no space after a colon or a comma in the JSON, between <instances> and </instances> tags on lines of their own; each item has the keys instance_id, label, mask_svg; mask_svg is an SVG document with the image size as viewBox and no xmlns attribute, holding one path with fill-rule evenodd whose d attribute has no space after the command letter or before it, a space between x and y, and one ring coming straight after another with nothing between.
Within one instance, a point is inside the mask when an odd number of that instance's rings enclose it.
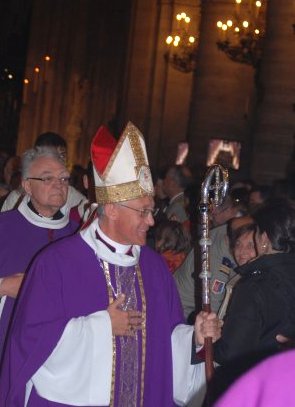
<instances>
[{"instance_id":1,"label":"smaller lit chandelier, left of the two, fully in view","mask_svg":"<svg viewBox=\"0 0 295 407\"><path fill-rule=\"evenodd\" d=\"M165 59L180 72L192 72L196 68L196 38L189 33L190 17L182 12L177 14L177 27L173 34L166 38L168 51Z\"/></svg>"}]
</instances>

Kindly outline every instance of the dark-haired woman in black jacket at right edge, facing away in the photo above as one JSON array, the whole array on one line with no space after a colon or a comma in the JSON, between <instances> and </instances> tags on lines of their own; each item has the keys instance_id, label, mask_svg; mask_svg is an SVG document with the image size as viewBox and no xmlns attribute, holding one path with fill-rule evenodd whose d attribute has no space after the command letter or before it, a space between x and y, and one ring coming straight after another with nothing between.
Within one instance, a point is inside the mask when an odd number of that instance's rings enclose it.
<instances>
[{"instance_id":1,"label":"dark-haired woman in black jacket at right edge, facing away","mask_svg":"<svg viewBox=\"0 0 295 407\"><path fill-rule=\"evenodd\" d=\"M236 377L280 350L278 334L295 338L295 206L268 201L253 214L258 257L236 269L237 283L214 360L220 394Z\"/></svg>"}]
</instances>

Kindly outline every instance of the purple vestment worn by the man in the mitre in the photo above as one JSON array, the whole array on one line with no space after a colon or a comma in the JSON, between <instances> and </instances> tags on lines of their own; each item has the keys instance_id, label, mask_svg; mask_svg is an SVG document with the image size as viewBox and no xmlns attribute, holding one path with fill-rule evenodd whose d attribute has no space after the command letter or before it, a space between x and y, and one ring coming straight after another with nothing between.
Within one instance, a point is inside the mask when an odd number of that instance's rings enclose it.
<instances>
[{"instance_id":1,"label":"purple vestment worn by the man in the mitre","mask_svg":"<svg viewBox=\"0 0 295 407\"><path fill-rule=\"evenodd\" d=\"M142 351L146 352L145 374L143 384L138 384L139 393L143 390L144 407L171 407L175 405L171 333L183 322L183 312L164 260L143 247L139 265L146 301L145 349L139 351L140 358ZM110 274L113 272L110 265ZM140 298L138 281L135 287ZM140 308L141 300L138 304ZM44 250L32 265L18 303L1 373L0 405L23 406L27 381L52 353L69 320L105 310L108 305L103 269L80 235ZM119 362L116 361L116 369ZM115 380L115 406L119 407L116 392ZM28 407L43 406L65 404L41 399L33 391Z\"/></svg>"}]
</instances>

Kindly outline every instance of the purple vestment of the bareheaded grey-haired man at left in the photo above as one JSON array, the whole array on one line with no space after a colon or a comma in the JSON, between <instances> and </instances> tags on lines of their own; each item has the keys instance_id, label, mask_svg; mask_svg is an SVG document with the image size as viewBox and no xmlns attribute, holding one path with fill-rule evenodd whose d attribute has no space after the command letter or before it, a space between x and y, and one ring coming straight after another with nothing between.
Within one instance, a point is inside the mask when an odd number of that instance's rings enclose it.
<instances>
[{"instance_id":1,"label":"purple vestment of the bareheaded grey-haired man at left","mask_svg":"<svg viewBox=\"0 0 295 407\"><path fill-rule=\"evenodd\" d=\"M70 221L61 229L47 229L30 223L18 210L0 214L0 278L26 272L43 247L53 240L69 236L78 224ZM7 297L0 321L0 354L15 300Z\"/></svg>"}]
</instances>

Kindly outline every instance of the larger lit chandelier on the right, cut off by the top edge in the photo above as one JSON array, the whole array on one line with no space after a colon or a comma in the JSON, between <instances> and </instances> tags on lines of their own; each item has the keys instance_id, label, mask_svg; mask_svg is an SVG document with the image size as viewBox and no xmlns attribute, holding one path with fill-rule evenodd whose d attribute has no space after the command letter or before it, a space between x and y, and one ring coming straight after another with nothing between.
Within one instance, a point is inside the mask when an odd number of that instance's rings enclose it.
<instances>
[{"instance_id":1,"label":"larger lit chandelier on the right, cut off by the top edge","mask_svg":"<svg viewBox=\"0 0 295 407\"><path fill-rule=\"evenodd\" d=\"M265 35L266 0L235 0L233 17L218 21L217 47L235 62L259 64Z\"/></svg>"}]
</instances>

